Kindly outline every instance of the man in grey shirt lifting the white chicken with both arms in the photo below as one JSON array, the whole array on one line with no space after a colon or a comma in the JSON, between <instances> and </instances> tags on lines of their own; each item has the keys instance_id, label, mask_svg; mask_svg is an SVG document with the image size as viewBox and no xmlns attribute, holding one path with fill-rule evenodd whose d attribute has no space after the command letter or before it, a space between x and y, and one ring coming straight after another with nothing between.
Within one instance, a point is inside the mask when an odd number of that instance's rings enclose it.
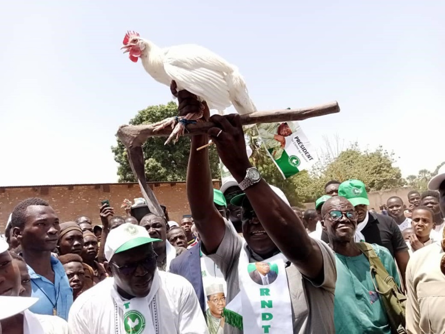
<instances>
[{"instance_id":1,"label":"man in grey shirt lifting the white chicken with both arms","mask_svg":"<svg viewBox=\"0 0 445 334\"><path fill-rule=\"evenodd\" d=\"M199 112L204 108L204 119L208 119L210 112L205 103L199 102L187 91L180 91L176 95L180 103L180 115L185 110ZM260 332L264 328L269 330L271 324L277 332L334 332L333 293L336 270L331 250L324 242L307 235L301 219L261 179L258 170L252 167L247 156L239 115L214 115L210 120L216 126L210 128L208 134L216 144L222 163L243 191L232 198L231 203L241 203L245 246L212 205L208 149L196 150L207 144L209 138L207 135L192 136L187 195L201 237L202 251L215 261L227 281L229 303L224 314L230 313L233 317L225 316L224 332L242 333L240 328L243 326ZM258 301L255 303L252 295L258 294L259 290L249 290L256 285L248 284L252 281L247 266L249 263L265 260L279 266L278 277L272 284L277 290L268 298L273 302L274 314L280 315L283 321L273 321L268 316L265 327L261 328L258 324L261 322L261 309L255 306ZM229 323L229 318L234 321Z\"/></svg>"}]
</instances>

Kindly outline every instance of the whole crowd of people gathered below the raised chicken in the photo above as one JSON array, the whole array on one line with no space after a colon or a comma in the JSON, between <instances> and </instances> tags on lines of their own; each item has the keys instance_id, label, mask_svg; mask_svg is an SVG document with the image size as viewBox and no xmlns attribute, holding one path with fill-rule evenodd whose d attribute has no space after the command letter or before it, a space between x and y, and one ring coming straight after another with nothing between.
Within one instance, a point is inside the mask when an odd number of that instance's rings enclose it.
<instances>
[{"instance_id":1,"label":"whole crowd of people gathered below the raised chicken","mask_svg":"<svg viewBox=\"0 0 445 334\"><path fill-rule=\"evenodd\" d=\"M178 98L180 113L209 118ZM445 332L445 167L381 213L360 180L327 183L301 210L249 162L238 115L211 121L191 137L180 222L142 199L124 216L104 203L96 226L60 222L40 198L18 203L0 238L0 332ZM232 174L219 190L196 150L209 137Z\"/></svg>"}]
</instances>

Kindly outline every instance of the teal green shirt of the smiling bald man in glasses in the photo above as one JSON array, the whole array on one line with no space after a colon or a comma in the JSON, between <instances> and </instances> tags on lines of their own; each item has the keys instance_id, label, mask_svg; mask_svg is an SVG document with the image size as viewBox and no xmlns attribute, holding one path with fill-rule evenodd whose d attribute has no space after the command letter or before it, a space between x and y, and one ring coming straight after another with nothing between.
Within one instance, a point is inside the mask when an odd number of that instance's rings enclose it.
<instances>
[{"instance_id":1,"label":"teal green shirt of the smiling bald man in glasses","mask_svg":"<svg viewBox=\"0 0 445 334\"><path fill-rule=\"evenodd\" d=\"M372 244L388 274L400 286L400 278L389 251ZM336 333L391 333L385 308L375 292L365 255L343 256L336 253L337 283L334 299Z\"/></svg>"}]
</instances>

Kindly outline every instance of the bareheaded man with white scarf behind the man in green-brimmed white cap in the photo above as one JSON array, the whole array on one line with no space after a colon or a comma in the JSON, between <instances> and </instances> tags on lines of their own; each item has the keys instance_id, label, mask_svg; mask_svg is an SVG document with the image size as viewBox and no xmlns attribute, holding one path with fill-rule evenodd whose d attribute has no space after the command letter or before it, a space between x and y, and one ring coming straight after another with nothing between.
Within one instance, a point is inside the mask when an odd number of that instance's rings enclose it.
<instances>
[{"instance_id":1,"label":"bareheaded man with white scarf behind the man in green-brimmed white cap","mask_svg":"<svg viewBox=\"0 0 445 334\"><path fill-rule=\"evenodd\" d=\"M164 217L149 213L142 217L139 225L145 228L152 238L160 239L160 242L153 244L154 252L157 255L156 262L159 270L168 272L170 270L171 260L184 253L186 249L172 246L172 244L168 242L167 220L165 220Z\"/></svg>"}]
</instances>

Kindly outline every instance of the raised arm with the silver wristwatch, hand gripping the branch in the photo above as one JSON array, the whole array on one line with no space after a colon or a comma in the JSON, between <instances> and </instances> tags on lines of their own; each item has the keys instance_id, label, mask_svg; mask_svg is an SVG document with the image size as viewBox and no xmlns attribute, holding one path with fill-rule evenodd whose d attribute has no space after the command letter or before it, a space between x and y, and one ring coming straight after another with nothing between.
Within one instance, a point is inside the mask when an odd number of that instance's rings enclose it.
<instances>
[{"instance_id":1,"label":"raised arm with the silver wristwatch, hand gripping the branch","mask_svg":"<svg viewBox=\"0 0 445 334\"><path fill-rule=\"evenodd\" d=\"M240 183L252 165L247 157L239 115L215 115L211 121L218 125L209 129L208 133L216 144L219 157ZM291 207L262 179L245 192L261 225L278 249L303 275L310 279L322 279L323 256L320 247L307 235L302 221Z\"/></svg>"}]
</instances>

